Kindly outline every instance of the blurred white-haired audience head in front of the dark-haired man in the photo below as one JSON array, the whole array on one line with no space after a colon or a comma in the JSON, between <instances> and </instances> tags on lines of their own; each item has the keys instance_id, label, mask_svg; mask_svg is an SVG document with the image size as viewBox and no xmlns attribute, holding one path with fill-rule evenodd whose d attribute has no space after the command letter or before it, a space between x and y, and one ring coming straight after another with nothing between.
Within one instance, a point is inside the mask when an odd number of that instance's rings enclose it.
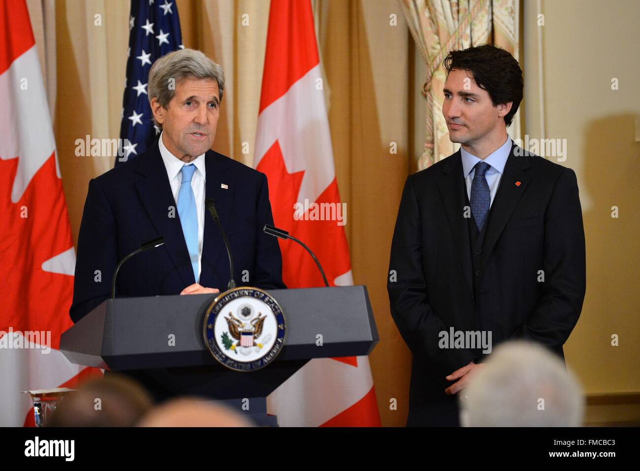
<instances>
[{"instance_id":1,"label":"blurred white-haired audience head in front of the dark-haired man","mask_svg":"<svg viewBox=\"0 0 640 471\"><path fill-rule=\"evenodd\" d=\"M497 347L458 399L467 427L580 427L584 413L582 388L563 361L524 341Z\"/></svg>"}]
</instances>

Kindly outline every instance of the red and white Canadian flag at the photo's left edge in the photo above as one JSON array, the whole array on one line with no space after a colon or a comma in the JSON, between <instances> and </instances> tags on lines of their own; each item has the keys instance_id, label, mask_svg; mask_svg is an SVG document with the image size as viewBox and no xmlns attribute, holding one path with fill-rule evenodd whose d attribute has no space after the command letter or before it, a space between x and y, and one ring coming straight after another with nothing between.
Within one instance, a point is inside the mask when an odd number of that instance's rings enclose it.
<instances>
[{"instance_id":1,"label":"red and white Canadian flag at the photo's left edge","mask_svg":"<svg viewBox=\"0 0 640 471\"><path fill-rule=\"evenodd\" d=\"M24 390L94 368L58 350L76 263L38 52L24 0L0 3L0 426L33 424Z\"/></svg>"}]
</instances>

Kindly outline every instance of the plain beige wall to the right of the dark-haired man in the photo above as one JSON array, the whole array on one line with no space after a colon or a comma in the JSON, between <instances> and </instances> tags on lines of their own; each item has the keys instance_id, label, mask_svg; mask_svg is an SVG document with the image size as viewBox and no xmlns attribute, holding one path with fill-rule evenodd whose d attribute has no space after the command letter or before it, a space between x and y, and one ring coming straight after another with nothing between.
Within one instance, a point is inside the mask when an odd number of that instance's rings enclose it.
<instances>
[{"instance_id":1,"label":"plain beige wall to the right of the dark-haired man","mask_svg":"<svg viewBox=\"0 0 640 471\"><path fill-rule=\"evenodd\" d=\"M561 165L577 174L586 235L587 293L565 346L567 363L589 394L639 393L640 143L634 119L640 116L640 3L545 0L542 27L534 7L525 2L527 133L541 132L541 32L546 137L566 139ZM611 90L612 78L619 79L619 90ZM612 206L620 210L618 219L611 217ZM618 347L611 345L613 334Z\"/></svg>"}]
</instances>

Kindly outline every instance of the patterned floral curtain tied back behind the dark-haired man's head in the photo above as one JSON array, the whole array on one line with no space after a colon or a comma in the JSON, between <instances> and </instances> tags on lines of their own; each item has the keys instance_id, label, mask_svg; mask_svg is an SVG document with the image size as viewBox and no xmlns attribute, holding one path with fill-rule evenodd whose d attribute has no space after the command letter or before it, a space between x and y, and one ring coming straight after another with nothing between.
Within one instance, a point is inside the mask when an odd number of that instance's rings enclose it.
<instances>
[{"instance_id":1,"label":"patterned floral curtain tied back behind the dark-haired man's head","mask_svg":"<svg viewBox=\"0 0 640 471\"><path fill-rule=\"evenodd\" d=\"M518 0L398 0L415 44L427 65L422 87L426 99L424 152L418 161L422 170L454 153L458 144L449 140L442 116L442 88L447 79L442 61L449 51L480 44L495 44L519 61ZM522 64L520 65L522 68ZM520 138L520 110L507 129Z\"/></svg>"}]
</instances>

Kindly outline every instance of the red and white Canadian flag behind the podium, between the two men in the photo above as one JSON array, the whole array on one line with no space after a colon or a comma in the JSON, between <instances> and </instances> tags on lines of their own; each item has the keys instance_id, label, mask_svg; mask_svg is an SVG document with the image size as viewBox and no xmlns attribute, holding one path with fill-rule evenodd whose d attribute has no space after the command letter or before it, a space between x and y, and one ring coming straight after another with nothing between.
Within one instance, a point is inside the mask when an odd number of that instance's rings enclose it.
<instances>
[{"instance_id":1,"label":"red and white Canadian flag behind the podium, between the two men","mask_svg":"<svg viewBox=\"0 0 640 471\"><path fill-rule=\"evenodd\" d=\"M330 285L352 285L310 0L271 0L254 167L268 177L275 225L310 247ZM319 215L323 203L333 220ZM280 249L289 288L324 286L302 247ZM380 426L367 356L309 361L268 408L280 426Z\"/></svg>"}]
</instances>

